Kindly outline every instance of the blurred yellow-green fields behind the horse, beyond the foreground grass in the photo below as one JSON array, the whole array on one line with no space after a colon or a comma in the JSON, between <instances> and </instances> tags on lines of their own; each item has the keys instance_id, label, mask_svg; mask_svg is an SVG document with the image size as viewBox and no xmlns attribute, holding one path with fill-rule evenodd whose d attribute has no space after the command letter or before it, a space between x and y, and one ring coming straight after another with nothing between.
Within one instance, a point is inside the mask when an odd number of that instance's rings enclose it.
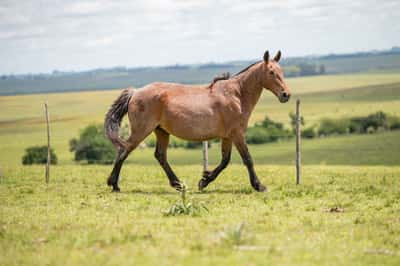
<instances>
[{"instance_id":1,"label":"blurred yellow-green fields behind the horse, beyond the foreground grass","mask_svg":"<svg viewBox=\"0 0 400 266\"><path fill-rule=\"evenodd\" d=\"M289 128L289 112L294 99L302 101L306 126L322 118L368 115L377 111L400 116L400 72L294 77L287 79L293 100L280 104L270 92L263 92L250 124L264 119L281 122ZM43 103L48 101L52 145L60 164L73 164L69 140L88 124L101 124L120 90L0 96L1 165L19 165L24 150L46 143ZM210 149L210 160L219 161L219 144ZM333 136L303 141L305 164L399 164L400 131L373 135ZM294 142L251 145L253 157L262 164L292 164ZM128 162L154 164L153 148L133 152ZM199 150L170 149L172 164L200 163ZM236 152L234 162L240 162Z\"/></svg>"}]
</instances>

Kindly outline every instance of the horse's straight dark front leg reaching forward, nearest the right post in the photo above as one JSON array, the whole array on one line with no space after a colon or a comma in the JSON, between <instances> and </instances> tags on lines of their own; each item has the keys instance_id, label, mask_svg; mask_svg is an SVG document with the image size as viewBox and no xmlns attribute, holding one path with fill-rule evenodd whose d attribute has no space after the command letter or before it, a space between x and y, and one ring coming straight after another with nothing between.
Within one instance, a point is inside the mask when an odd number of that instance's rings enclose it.
<instances>
[{"instance_id":1,"label":"horse's straight dark front leg reaching forward, nearest the right post","mask_svg":"<svg viewBox=\"0 0 400 266\"><path fill-rule=\"evenodd\" d=\"M235 136L233 142L237 150L239 151L240 156L242 157L243 163L247 167L251 186L259 192L266 191L267 188L263 184L261 184L260 180L256 175L256 172L254 171L253 159L251 158L251 155L247 148L245 135L238 134L237 136Z\"/></svg>"}]
</instances>

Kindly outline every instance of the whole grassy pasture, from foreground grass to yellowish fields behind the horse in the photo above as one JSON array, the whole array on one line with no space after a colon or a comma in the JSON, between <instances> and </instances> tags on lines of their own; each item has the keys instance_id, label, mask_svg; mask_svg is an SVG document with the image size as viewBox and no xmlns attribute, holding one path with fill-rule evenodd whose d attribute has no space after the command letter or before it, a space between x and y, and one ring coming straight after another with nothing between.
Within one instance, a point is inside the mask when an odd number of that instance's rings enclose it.
<instances>
[{"instance_id":1,"label":"whole grassy pasture, from foreground grass to yellowish fields behind the horse","mask_svg":"<svg viewBox=\"0 0 400 266\"><path fill-rule=\"evenodd\" d=\"M287 82L302 100L306 126L376 111L400 116L400 72ZM111 166L77 164L68 150L80 129L102 123L119 92L0 97L0 265L400 264L400 131L303 140L301 186L293 141L251 145L268 193L251 189L236 151L199 193L201 151L169 149L189 197L208 212L166 217L179 194L152 148L131 154L121 193L105 185ZM46 100L59 158L47 186L43 166L21 166L25 148L46 143ZM289 127L290 111L294 101L280 104L266 91L251 123L268 115ZM213 143L211 167L219 153Z\"/></svg>"}]
</instances>

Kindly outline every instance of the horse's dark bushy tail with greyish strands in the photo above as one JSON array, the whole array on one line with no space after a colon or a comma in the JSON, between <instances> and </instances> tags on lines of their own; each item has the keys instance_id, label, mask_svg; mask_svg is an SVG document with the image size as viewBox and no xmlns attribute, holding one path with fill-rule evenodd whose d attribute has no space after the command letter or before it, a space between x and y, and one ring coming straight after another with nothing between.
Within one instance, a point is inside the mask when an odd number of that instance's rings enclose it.
<instances>
[{"instance_id":1,"label":"horse's dark bushy tail with greyish strands","mask_svg":"<svg viewBox=\"0 0 400 266\"><path fill-rule=\"evenodd\" d=\"M106 136L117 149L126 147L126 141L119 136L119 127L121 126L122 118L128 112L129 100L132 94L132 89L123 90L121 95L111 105L104 120Z\"/></svg>"}]
</instances>

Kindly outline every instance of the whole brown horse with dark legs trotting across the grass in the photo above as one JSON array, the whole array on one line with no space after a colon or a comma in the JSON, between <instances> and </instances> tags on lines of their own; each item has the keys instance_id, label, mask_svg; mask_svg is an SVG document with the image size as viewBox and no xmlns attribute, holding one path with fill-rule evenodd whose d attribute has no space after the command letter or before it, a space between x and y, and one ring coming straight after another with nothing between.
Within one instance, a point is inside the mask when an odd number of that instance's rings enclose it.
<instances>
[{"instance_id":1,"label":"whole brown horse with dark legs trotting across the grass","mask_svg":"<svg viewBox=\"0 0 400 266\"><path fill-rule=\"evenodd\" d=\"M180 190L181 183L167 161L169 135L185 140L204 141L221 139L222 160L212 171L205 171L199 181L204 189L228 165L232 143L249 172L250 183L257 191L266 187L258 179L247 149L247 124L263 88L270 90L284 103L290 90L283 79L278 61L279 51L269 60L268 51L263 60L243 69L233 77L214 80L211 86L193 86L175 83L151 83L141 89L125 89L113 103L105 118L105 131L117 147L114 168L107 180L113 191L118 187L119 173L124 160L151 132L157 137L155 157L168 176L172 187ZM128 113L131 135L119 137L118 130Z\"/></svg>"}]
</instances>

